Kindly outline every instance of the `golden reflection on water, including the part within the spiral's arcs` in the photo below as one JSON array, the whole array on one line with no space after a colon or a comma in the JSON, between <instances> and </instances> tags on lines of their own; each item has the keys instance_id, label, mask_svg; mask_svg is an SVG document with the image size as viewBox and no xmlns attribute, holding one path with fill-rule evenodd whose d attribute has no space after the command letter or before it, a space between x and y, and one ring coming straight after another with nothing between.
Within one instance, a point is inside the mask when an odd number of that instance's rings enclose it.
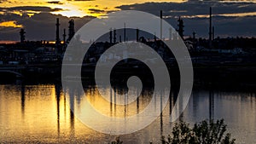
<instances>
[{"instance_id":1,"label":"golden reflection on water, including the part within the spiral's arcs","mask_svg":"<svg viewBox=\"0 0 256 144\"><path fill-rule=\"evenodd\" d=\"M85 89L84 92L96 110L115 117L136 114L150 101L150 97L143 97L140 98L142 101L132 102L127 107L116 106L103 99L95 87ZM66 98L64 94L61 87L54 84L0 85L0 143L3 140L18 143L69 143L73 140L81 142L97 139L109 142L115 137L97 133L82 124L73 115L68 96ZM75 98L75 111L86 111L83 109L83 100L83 96Z\"/></svg>"}]
</instances>

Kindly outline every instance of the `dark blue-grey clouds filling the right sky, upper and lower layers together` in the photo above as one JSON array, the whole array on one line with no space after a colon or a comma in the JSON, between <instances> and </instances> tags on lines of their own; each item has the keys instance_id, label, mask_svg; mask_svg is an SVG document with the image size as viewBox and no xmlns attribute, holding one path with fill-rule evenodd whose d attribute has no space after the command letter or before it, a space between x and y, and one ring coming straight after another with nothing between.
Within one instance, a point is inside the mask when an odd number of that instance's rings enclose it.
<instances>
[{"instance_id":1,"label":"dark blue-grey clouds filling the right sky, upper and lower layers together","mask_svg":"<svg viewBox=\"0 0 256 144\"><path fill-rule=\"evenodd\" d=\"M177 28L177 17L181 16L184 21L185 35L196 32L199 37L207 37L209 20L209 8L212 7L213 25L216 36L256 36L256 16L224 16L221 14L254 13L256 3L224 3L219 1L188 1L184 3L141 3L122 5L117 7L121 10L141 10L150 14L163 15L174 28ZM196 16L197 15L197 16ZM199 17L201 16L201 17Z\"/></svg>"}]
</instances>

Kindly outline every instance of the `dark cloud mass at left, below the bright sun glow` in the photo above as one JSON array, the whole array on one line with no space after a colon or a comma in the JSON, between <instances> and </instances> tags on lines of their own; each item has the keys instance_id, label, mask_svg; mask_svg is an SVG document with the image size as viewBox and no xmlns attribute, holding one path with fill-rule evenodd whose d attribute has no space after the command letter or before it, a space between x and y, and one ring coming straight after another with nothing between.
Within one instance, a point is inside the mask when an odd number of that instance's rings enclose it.
<instances>
[{"instance_id":1,"label":"dark cloud mass at left, below the bright sun glow","mask_svg":"<svg viewBox=\"0 0 256 144\"><path fill-rule=\"evenodd\" d=\"M30 9L32 8L32 9ZM38 7L39 10L44 11L43 13L34 14L29 17L26 14L22 16L13 13L0 14L0 20L10 21L15 20L17 25L22 25L26 31L27 40L55 40L55 22L56 18L60 19L60 35L62 35L63 29L68 27L68 21L73 19L75 22L75 29L79 30L81 26L84 26L89 20L94 17L84 16L82 18L73 17L68 18L62 16L61 14L51 14L50 12L58 9L50 9L44 7ZM12 10L22 9L22 10L36 10L35 7L20 7L11 8ZM1 10L1 9L0 9ZM20 28L14 27L0 27L0 40L19 40Z\"/></svg>"}]
</instances>

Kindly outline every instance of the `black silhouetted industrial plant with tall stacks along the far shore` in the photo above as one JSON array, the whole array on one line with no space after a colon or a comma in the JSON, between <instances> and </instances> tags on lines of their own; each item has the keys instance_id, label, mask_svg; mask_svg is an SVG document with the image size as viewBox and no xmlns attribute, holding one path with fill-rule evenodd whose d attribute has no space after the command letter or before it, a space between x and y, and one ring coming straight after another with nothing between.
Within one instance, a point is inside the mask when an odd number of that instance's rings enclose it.
<instances>
[{"instance_id":1,"label":"black silhouetted industrial plant with tall stacks along the far shore","mask_svg":"<svg viewBox=\"0 0 256 144\"><path fill-rule=\"evenodd\" d=\"M191 33L192 37L184 36L185 21L182 16L177 19L177 33L183 38L184 43L189 49L189 54L195 72L198 71L195 78L208 75L212 79L219 72L222 74L250 76L250 72L255 72L256 66L256 38L254 37L215 37L214 26L212 26L212 8L209 12L209 37L196 37L196 32ZM160 18L163 18L162 11L160 11ZM20 43L1 44L0 45L0 70L2 72L19 73L19 76L33 76L36 77L59 77L61 75L61 61L68 43L71 42L75 35L75 21L68 21L68 33L66 29L60 30L61 23L56 19L55 23L55 41L28 41L26 40L26 30L20 29ZM86 64L96 65L96 60L102 52L116 43L126 41L137 41L145 43L154 49L167 63L167 66L176 66L175 58L172 52L168 51L166 45L162 40L172 40L177 38L172 29L170 29L170 36L164 38L155 35L143 35L139 29L131 30L125 28L123 30L116 30L114 27L110 28L109 32L103 40L92 40L88 54L84 57ZM61 34L61 32L63 32ZM129 33L129 35L127 35ZM131 36L131 33L134 33ZM60 35L62 35L62 40ZM119 37L119 41L117 40ZM79 37L74 37L79 38ZM77 39L79 40L79 39ZM89 42L87 42L89 43ZM199 67L199 68L198 68ZM200 69L200 67L207 67ZM234 67L228 69L227 67ZM248 73L248 69L250 72ZM245 74L246 73L246 74ZM227 77L225 77L227 78ZM242 77L241 77L242 78ZM246 78L243 78L246 79ZM215 79L216 80L216 79Z\"/></svg>"}]
</instances>

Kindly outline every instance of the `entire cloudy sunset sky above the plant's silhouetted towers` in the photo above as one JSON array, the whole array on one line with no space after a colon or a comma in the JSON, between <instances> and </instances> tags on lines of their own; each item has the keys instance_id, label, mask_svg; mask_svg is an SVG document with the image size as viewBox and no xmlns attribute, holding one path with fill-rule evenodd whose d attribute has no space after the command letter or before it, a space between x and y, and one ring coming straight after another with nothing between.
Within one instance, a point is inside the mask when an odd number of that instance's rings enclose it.
<instances>
[{"instance_id":1,"label":"entire cloudy sunset sky above the plant's silhouetted towers","mask_svg":"<svg viewBox=\"0 0 256 144\"><path fill-rule=\"evenodd\" d=\"M159 15L177 28L177 17L184 20L185 35L196 32L207 36L209 7L212 6L213 26L220 37L256 36L256 0L251 1L181 1L181 0L0 0L0 40L19 40L20 28L26 39L53 40L55 18L61 29L75 17L76 30L94 17L104 17L116 10L141 10Z\"/></svg>"}]
</instances>

